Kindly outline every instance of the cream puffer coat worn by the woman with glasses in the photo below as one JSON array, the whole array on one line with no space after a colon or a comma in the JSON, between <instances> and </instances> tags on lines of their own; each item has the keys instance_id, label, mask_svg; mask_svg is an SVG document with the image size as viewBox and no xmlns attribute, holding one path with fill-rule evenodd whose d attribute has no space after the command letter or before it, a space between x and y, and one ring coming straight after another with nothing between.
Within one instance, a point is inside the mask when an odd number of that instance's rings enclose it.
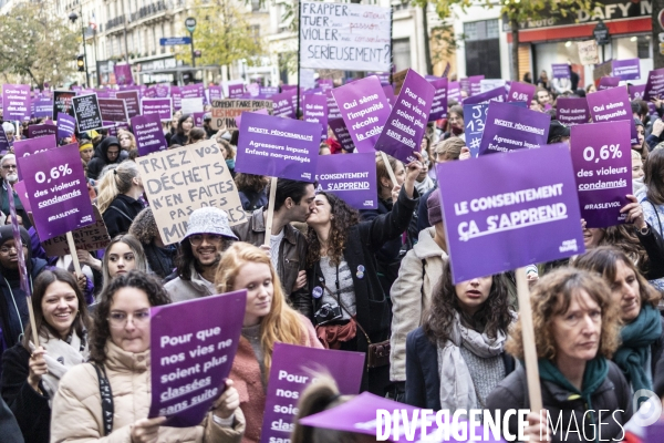
<instances>
[{"instance_id":1,"label":"cream puffer coat worn by the woman with glasses","mask_svg":"<svg viewBox=\"0 0 664 443\"><path fill-rule=\"evenodd\" d=\"M92 364L72 368L60 381L53 401L51 442L131 443L131 426L147 418L151 404L149 350L125 352L111 341L106 344L106 375L113 392L113 432L103 436L102 400ZM211 412L194 427L162 427L159 443L239 443L245 415L238 408L234 427L215 423Z\"/></svg>"}]
</instances>

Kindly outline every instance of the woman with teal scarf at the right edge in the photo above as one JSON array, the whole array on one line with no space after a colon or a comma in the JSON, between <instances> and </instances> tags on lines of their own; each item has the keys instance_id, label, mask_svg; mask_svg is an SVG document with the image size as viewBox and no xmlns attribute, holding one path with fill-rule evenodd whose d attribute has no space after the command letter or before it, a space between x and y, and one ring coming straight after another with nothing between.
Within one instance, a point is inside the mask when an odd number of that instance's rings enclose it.
<instances>
[{"instance_id":1,"label":"woman with teal scarf at the right edge","mask_svg":"<svg viewBox=\"0 0 664 443\"><path fill-rule=\"evenodd\" d=\"M623 323L621 344L613 361L623 371L633 392L652 391L656 364L664 360L664 320L656 309L660 292L649 285L632 260L615 248L595 248L580 256L574 266L600 274L609 284Z\"/></svg>"}]
</instances>

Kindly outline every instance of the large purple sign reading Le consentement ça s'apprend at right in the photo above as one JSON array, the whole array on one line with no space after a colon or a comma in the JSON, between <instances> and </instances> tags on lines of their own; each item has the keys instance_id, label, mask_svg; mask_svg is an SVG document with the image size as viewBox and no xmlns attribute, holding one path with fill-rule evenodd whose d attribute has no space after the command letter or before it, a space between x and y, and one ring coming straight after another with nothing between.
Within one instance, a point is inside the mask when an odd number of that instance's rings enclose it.
<instances>
[{"instance_id":1,"label":"large purple sign reading Le consentement \u00e7a s'apprend at right","mask_svg":"<svg viewBox=\"0 0 664 443\"><path fill-rule=\"evenodd\" d=\"M584 251L567 144L436 169L455 285Z\"/></svg>"}]
</instances>

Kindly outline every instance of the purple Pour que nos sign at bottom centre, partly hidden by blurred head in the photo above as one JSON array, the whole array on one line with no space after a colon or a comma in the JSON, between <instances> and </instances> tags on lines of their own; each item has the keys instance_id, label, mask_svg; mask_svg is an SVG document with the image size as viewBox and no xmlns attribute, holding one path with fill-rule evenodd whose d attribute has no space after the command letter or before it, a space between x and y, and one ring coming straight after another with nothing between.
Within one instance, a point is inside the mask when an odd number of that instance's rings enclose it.
<instances>
[{"instance_id":1,"label":"purple Pour que nos sign at bottom centre, partly hidden by blurred head","mask_svg":"<svg viewBox=\"0 0 664 443\"><path fill-rule=\"evenodd\" d=\"M297 399L311 384L313 371L330 374L336 381L339 392L353 395L360 392L364 354L276 343L260 443L283 441L290 436L297 414Z\"/></svg>"}]
</instances>

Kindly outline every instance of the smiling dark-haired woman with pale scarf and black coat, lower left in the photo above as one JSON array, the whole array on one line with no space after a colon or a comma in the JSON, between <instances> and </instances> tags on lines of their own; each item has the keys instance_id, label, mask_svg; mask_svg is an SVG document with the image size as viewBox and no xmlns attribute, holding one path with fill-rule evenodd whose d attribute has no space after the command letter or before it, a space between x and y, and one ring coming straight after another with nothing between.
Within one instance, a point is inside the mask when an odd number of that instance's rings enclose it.
<instances>
[{"instance_id":1,"label":"smiling dark-haired woman with pale scarf and black coat, lower left","mask_svg":"<svg viewBox=\"0 0 664 443\"><path fill-rule=\"evenodd\" d=\"M22 341L2 356L2 399L13 412L25 442L48 443L51 405L60 379L87 361L85 298L64 269L45 270L32 295L39 343L30 326Z\"/></svg>"}]
</instances>

